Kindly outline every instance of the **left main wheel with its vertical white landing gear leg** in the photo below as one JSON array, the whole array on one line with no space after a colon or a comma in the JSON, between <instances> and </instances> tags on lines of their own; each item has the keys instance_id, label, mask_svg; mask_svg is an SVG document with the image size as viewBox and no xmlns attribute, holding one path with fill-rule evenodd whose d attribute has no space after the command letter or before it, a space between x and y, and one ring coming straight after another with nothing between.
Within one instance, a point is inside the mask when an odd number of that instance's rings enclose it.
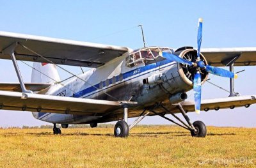
<instances>
[{"instance_id":1,"label":"left main wheel with its vertical white landing gear leg","mask_svg":"<svg viewBox=\"0 0 256 168\"><path fill-rule=\"evenodd\" d=\"M118 121L114 128L115 137L128 137L129 126L127 124L128 120L128 108L124 108L124 120Z\"/></svg>"}]
</instances>

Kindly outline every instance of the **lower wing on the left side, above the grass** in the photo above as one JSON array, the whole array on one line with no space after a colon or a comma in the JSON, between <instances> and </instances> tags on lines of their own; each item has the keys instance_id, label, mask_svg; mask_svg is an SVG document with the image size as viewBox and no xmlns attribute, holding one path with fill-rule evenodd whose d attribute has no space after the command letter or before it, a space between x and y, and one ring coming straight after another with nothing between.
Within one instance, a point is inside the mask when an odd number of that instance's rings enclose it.
<instances>
[{"instance_id":1,"label":"lower wing on the left side, above the grass","mask_svg":"<svg viewBox=\"0 0 256 168\"><path fill-rule=\"evenodd\" d=\"M0 91L0 109L12 111L52 112L61 114L93 115L122 108L123 103L86 98L38 95Z\"/></svg>"}]
</instances>

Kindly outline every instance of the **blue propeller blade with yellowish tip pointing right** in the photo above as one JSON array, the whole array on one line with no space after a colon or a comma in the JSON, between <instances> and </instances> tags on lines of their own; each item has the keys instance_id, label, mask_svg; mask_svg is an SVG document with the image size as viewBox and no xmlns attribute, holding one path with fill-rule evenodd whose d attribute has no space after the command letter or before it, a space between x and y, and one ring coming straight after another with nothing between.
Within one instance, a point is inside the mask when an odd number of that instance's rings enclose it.
<instances>
[{"instance_id":1,"label":"blue propeller blade with yellowish tip pointing right","mask_svg":"<svg viewBox=\"0 0 256 168\"><path fill-rule=\"evenodd\" d=\"M218 75L218 76L221 76L221 77L229 77L229 78L235 78L235 79L237 78L236 73L233 73L233 72L230 72L228 70L224 70L222 68L218 68L218 67L215 67L215 66L206 65L205 70L209 73L212 73L214 75Z\"/></svg>"}]
</instances>

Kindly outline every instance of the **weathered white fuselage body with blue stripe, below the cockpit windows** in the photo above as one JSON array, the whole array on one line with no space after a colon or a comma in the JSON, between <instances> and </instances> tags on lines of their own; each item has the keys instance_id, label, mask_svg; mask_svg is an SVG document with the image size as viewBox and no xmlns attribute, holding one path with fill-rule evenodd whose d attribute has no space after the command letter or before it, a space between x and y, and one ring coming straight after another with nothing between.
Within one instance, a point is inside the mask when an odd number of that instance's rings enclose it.
<instances>
[{"instance_id":1,"label":"weathered white fuselage body with blue stripe, below the cockpit windows","mask_svg":"<svg viewBox=\"0 0 256 168\"><path fill-rule=\"evenodd\" d=\"M106 65L99 68L92 68L87 72L78 75L84 81L73 77L68 80L64 85L52 84L51 88L45 93L46 95L58 95L58 96L74 96L79 98L93 98L101 100L132 100L138 102L136 109L142 111L146 105L152 105L155 102L161 102L166 100L170 94L186 92L191 89L181 79L177 63L168 62L167 60L154 63L152 65L140 64L129 68L126 66L125 58L129 55L129 52L123 56L117 57L112 61L106 63ZM163 63L162 63L163 62ZM147 79L149 76L161 73L164 74L166 81L161 84L143 84L143 79ZM120 77L120 74L123 77ZM102 87L100 82L104 82L107 79L117 79L115 84L106 84ZM123 78L123 79L122 79ZM106 82L105 82L106 83ZM99 89L95 89L92 86L96 86ZM113 96L115 99L107 96L105 93ZM129 109L132 111L132 108ZM38 113L33 112L33 116L36 119L47 121L50 123L68 123L68 124L81 124L97 122L102 116L77 116L72 114L54 114L54 113ZM129 115L134 117L134 115ZM107 119L106 121L113 121L116 119Z\"/></svg>"}]
</instances>

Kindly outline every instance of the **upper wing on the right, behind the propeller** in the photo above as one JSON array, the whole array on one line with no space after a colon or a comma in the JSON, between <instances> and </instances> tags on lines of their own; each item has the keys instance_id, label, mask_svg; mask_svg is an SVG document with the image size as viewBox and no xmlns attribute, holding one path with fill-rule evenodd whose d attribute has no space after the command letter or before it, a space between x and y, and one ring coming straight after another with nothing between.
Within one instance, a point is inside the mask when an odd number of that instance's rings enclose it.
<instances>
[{"instance_id":1,"label":"upper wing on the right, behind the propeller","mask_svg":"<svg viewBox=\"0 0 256 168\"><path fill-rule=\"evenodd\" d=\"M226 66L237 58L236 66L256 65L256 47L201 49L207 62L214 66Z\"/></svg>"}]
</instances>

